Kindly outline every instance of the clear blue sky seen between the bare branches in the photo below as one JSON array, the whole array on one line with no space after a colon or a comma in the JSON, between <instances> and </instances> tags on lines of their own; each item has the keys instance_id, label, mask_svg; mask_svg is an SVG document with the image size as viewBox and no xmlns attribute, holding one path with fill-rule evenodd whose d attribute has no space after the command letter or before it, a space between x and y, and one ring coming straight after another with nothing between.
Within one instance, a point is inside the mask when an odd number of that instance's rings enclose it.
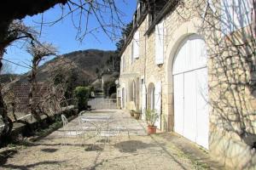
<instances>
[{"instance_id":1,"label":"clear blue sky seen between the bare branches","mask_svg":"<svg viewBox=\"0 0 256 170\"><path fill-rule=\"evenodd\" d=\"M115 2L124 14L121 16L121 20L124 23L130 22L137 5L137 0L115 0ZM61 16L61 8L57 5L55 8L50 8L48 11L44 12L44 22L56 20L59 16ZM108 20L109 15L106 14L104 17ZM38 14L32 17L26 17L23 21L26 26L32 26L35 30L40 31L41 25L38 23L41 19L42 14ZM78 23L79 15L73 14L73 19L75 23ZM96 24L96 18L90 17L89 26L90 29L98 26ZM102 30L94 31L95 36L90 34L86 35L83 42L76 40L77 32L77 29L73 26L71 15L69 15L67 18L53 26L43 26L39 39L41 42L52 43L57 48L58 54L66 54L72 51L90 48L102 50L114 50L116 48L116 41L111 40ZM23 42L15 42L7 48L7 54L4 55L4 59L9 59L20 65L30 65L32 57L30 54L26 53L26 48ZM29 71L29 69L17 65L11 65L11 68L13 73L18 74Z\"/></svg>"}]
</instances>

